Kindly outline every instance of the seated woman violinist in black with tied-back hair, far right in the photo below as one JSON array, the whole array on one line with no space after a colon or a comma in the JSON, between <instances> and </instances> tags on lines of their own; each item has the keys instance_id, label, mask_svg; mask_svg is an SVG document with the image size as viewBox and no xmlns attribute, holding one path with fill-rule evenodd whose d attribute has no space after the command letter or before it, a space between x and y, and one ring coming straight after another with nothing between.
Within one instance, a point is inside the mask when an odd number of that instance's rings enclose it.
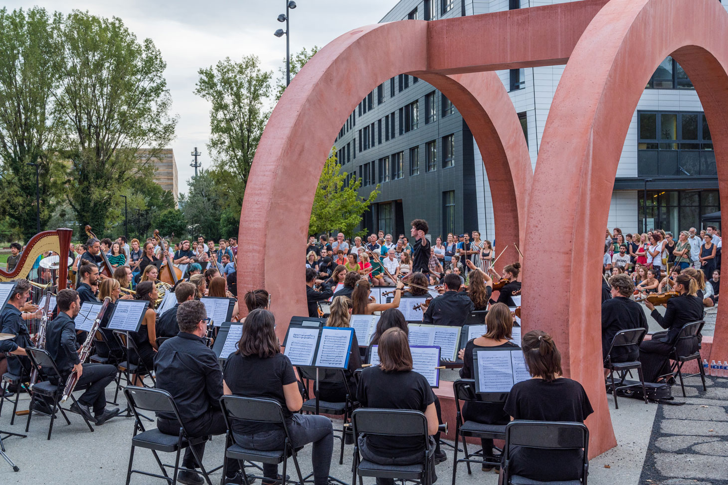
<instances>
[{"instance_id":1,"label":"seated woman violinist in black with tied-back hair, far right","mask_svg":"<svg viewBox=\"0 0 728 485\"><path fill-rule=\"evenodd\" d=\"M645 382L662 382L665 376L670 374L670 351L680 334L680 329L690 322L703 320L703 301L695 296L697 282L686 274L678 275L675 278L674 291L680 293L668 300L665 304L665 316L663 317L654 309L654 305L645 301L645 306L652 310L652 318L660 323L666 332L659 332L652 336L652 339L645 340L639 346L639 360L642 363L642 372ZM700 336L692 339L685 339L678 345L678 352L687 355L695 352L700 344Z\"/></svg>"}]
</instances>

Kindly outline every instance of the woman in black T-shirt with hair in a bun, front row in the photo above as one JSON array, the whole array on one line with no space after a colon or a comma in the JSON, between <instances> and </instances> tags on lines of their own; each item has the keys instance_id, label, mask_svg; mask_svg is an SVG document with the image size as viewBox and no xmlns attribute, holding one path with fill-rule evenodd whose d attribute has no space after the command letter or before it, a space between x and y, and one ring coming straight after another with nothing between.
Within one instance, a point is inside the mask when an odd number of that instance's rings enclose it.
<instances>
[{"instance_id":1,"label":"woman in black T-shirt with hair in a bun, front row","mask_svg":"<svg viewBox=\"0 0 728 485\"><path fill-rule=\"evenodd\" d=\"M523 358L532 379L518 382L505 401L513 419L584 422L592 409L579 382L562 377L561 353L551 336L532 330L521 339ZM582 477L582 450L542 450L513 446L510 474L539 481L567 481Z\"/></svg>"}]
</instances>

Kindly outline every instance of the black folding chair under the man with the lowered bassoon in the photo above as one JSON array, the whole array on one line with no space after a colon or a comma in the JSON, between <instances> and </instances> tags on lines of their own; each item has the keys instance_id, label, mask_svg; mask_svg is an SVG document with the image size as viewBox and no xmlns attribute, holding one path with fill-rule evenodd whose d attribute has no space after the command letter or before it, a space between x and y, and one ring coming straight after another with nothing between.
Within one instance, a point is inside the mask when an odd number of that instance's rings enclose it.
<instances>
[{"instance_id":1,"label":"black folding chair under the man with the lowered bassoon","mask_svg":"<svg viewBox=\"0 0 728 485\"><path fill-rule=\"evenodd\" d=\"M60 379L60 371L58 371L58 367L55 365L55 361L46 350L26 347L25 352L28 354L28 358L30 358L31 360L31 365L38 370L39 376L39 382L36 382L35 384L33 384L33 387L31 387L31 393L33 393L33 397L31 398L30 406L28 406L28 421L25 422L25 433L28 433L28 429L30 429L31 427L31 417L33 417L33 413L47 415L44 412L37 411L35 409L36 402L42 401L51 408L50 424L48 425L47 438L50 440L50 435L53 431L53 421L55 420L56 411L60 411L63 419L66 419L67 425L71 424L71 422L68 421L68 416L66 416L66 410L64 410L63 407L61 407L58 403L58 401L60 401L60 399L63 397L63 389L66 387L66 381ZM87 390L88 388L88 385L76 385L76 387L74 387L74 393L76 391ZM69 397L72 401L74 401L74 403L76 403L76 406L79 406L79 402L76 401L76 398L74 398L73 394L71 394ZM91 426L91 423L89 422L87 417L85 417L84 414L81 414L81 417L84 419L84 422L89 427L89 430L93 432L93 427Z\"/></svg>"}]
</instances>

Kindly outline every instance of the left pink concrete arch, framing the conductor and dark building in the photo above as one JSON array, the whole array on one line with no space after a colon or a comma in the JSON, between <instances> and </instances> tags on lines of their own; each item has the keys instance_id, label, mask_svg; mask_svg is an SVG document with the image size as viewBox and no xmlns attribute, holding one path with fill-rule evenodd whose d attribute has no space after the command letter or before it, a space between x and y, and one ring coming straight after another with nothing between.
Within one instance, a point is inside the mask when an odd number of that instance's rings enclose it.
<instances>
[{"instance_id":1,"label":"left pink concrete arch, framing the conductor and dark building","mask_svg":"<svg viewBox=\"0 0 728 485\"><path fill-rule=\"evenodd\" d=\"M293 79L269 119L240 217L243 246L248 241L266 244L262 252L245 251L238 284L242 292L266 288L272 293L281 337L291 316L306 315L303 275L290 274L281 248L306 239L323 163L357 103L397 74L418 73L425 79L419 73L427 71L427 28L424 21L408 20L370 25L340 36ZM490 157L491 190L504 201L495 208L496 226L510 225L504 234L519 240L518 221L526 207L531 162L505 88L494 73L433 75L430 82L453 96L477 134L481 151Z\"/></svg>"}]
</instances>

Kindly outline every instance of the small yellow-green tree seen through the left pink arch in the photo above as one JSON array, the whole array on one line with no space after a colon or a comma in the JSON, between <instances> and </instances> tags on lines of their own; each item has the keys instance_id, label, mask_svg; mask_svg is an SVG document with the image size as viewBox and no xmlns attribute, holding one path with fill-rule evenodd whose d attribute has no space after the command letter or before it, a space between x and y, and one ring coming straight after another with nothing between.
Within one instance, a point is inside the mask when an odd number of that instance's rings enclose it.
<instances>
[{"instance_id":1,"label":"small yellow-green tree seen through the left pink arch","mask_svg":"<svg viewBox=\"0 0 728 485\"><path fill-rule=\"evenodd\" d=\"M379 185L371 191L369 197L360 197L357 189L361 180L352 178L349 186L345 186L346 172L341 172L341 165L336 160L336 147L326 160L314 196L308 234L323 234L332 230L352 234L361 223L362 214L369 210L371 202L379 196ZM362 232L366 232L364 229Z\"/></svg>"}]
</instances>

